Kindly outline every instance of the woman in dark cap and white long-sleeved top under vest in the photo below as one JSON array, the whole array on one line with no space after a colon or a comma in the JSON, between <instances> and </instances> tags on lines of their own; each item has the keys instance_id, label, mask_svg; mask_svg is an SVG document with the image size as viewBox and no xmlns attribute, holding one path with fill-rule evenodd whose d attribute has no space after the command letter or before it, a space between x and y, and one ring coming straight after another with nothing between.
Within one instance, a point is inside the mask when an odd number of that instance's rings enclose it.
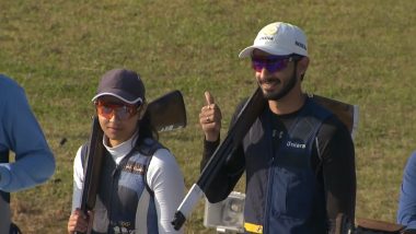
<instances>
[{"instance_id":1,"label":"woman in dark cap and white long-sleeved top under vest","mask_svg":"<svg viewBox=\"0 0 416 234\"><path fill-rule=\"evenodd\" d=\"M184 197L183 175L174 156L155 140L145 93L134 71L115 69L103 75L92 100L106 150L99 194L89 219L79 209L86 154L81 147L73 165L69 233L182 233L170 221Z\"/></svg>"}]
</instances>

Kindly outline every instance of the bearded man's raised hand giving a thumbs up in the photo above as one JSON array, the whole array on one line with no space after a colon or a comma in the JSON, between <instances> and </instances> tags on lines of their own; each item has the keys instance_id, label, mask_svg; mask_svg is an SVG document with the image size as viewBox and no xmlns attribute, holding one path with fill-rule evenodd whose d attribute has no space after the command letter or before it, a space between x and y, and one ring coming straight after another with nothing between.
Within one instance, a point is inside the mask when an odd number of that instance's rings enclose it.
<instances>
[{"instance_id":1,"label":"bearded man's raised hand giving a thumbs up","mask_svg":"<svg viewBox=\"0 0 416 234\"><path fill-rule=\"evenodd\" d=\"M205 139L217 141L221 129L221 109L215 104L213 97L208 91L205 92L205 100L207 105L200 109L199 124L203 127Z\"/></svg>"}]
</instances>

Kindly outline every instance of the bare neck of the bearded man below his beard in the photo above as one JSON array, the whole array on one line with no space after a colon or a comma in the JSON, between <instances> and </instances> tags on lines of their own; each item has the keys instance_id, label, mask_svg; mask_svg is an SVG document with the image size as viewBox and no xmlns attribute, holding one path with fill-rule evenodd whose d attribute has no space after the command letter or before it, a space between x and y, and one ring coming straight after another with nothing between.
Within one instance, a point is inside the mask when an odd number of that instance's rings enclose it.
<instances>
[{"instance_id":1,"label":"bare neck of the bearded man below his beard","mask_svg":"<svg viewBox=\"0 0 416 234\"><path fill-rule=\"evenodd\" d=\"M268 101L268 106L276 115L286 115L299 110L305 101L305 95L302 92L289 93L279 101Z\"/></svg>"}]
</instances>

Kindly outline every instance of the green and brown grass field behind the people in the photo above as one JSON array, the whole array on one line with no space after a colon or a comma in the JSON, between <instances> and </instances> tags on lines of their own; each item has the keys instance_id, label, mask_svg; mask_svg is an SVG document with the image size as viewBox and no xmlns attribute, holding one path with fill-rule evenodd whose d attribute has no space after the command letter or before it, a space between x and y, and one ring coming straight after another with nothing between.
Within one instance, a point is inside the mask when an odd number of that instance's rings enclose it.
<instances>
[{"instance_id":1,"label":"green and brown grass field behind the people","mask_svg":"<svg viewBox=\"0 0 416 234\"><path fill-rule=\"evenodd\" d=\"M187 128L160 138L189 188L199 174L204 91L228 126L255 86L239 51L264 25L286 21L309 38L304 90L360 107L356 215L394 222L403 167L416 149L415 12L411 0L0 0L0 72L26 90L57 160L45 185L12 195L13 220L24 233L66 233L72 160L89 136L99 78L113 68L141 73L149 100L184 94ZM186 233L213 232L203 226L203 207Z\"/></svg>"}]
</instances>

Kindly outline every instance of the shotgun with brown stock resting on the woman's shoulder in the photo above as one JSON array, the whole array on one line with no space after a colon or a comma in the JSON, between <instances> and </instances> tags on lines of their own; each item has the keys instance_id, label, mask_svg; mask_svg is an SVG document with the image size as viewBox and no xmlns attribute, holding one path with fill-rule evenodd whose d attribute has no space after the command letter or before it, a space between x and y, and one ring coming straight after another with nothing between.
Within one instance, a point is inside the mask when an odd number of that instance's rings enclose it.
<instances>
[{"instance_id":1,"label":"shotgun with brown stock resting on the woman's shoulder","mask_svg":"<svg viewBox=\"0 0 416 234\"><path fill-rule=\"evenodd\" d=\"M171 131L186 126L185 104L180 91L172 91L148 105L150 122L157 131ZM88 157L84 166L84 184L81 197L81 210L86 215L95 206L100 173L104 155L103 130L97 116L93 117L89 140ZM77 232L79 233L79 232Z\"/></svg>"}]
</instances>

